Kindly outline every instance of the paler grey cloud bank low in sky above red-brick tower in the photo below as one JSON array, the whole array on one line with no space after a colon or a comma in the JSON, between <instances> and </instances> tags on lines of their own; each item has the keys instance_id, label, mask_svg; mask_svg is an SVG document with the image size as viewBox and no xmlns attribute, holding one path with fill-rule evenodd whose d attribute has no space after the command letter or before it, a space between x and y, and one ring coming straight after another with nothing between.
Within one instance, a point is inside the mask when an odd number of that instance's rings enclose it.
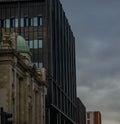
<instances>
[{"instance_id":1,"label":"paler grey cloud bank low in sky above red-brick tower","mask_svg":"<svg viewBox=\"0 0 120 124\"><path fill-rule=\"evenodd\" d=\"M88 111L100 110L104 124L118 124L119 120L119 88L96 90L88 87L78 87L78 95L82 97ZM83 95L83 96L82 96Z\"/></svg>"}]
</instances>

